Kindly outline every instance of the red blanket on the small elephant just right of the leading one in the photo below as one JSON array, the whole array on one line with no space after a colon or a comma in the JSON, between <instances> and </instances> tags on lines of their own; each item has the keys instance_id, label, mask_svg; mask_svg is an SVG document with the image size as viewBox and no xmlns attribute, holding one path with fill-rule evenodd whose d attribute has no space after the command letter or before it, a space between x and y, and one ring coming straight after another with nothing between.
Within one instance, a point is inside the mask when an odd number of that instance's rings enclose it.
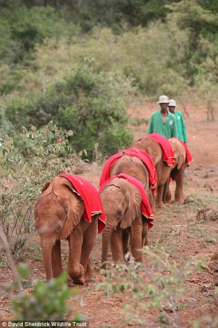
<instances>
[{"instance_id":1,"label":"red blanket on the small elephant just right of the leading one","mask_svg":"<svg viewBox=\"0 0 218 328\"><path fill-rule=\"evenodd\" d=\"M108 183L110 183L113 179L115 178L123 178L128 180L132 185L134 185L138 191L141 194L141 213L147 218L148 223L149 223L149 229L151 229L153 227L153 221L154 221L154 217L153 217L153 211L152 208L150 206L148 197L146 192L144 191L144 187L143 185L135 178L128 176L125 173L120 173L115 177L110 178L109 180L105 181L105 183L103 183L103 185L101 185L100 189L99 189L99 194L102 192L102 190L108 185Z\"/></svg>"}]
</instances>

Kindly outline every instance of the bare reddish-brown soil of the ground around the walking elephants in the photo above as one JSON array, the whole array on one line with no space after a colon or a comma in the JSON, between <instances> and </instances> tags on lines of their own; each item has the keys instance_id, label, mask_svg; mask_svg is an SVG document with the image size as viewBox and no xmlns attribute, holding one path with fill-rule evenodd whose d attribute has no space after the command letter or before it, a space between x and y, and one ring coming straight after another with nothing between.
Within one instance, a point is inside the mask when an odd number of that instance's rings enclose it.
<instances>
[{"instance_id":1,"label":"bare reddish-brown soil of the ground around the walking elephants","mask_svg":"<svg viewBox=\"0 0 218 328\"><path fill-rule=\"evenodd\" d=\"M135 103L129 109L131 118L149 119L151 113L157 110L155 103ZM179 110L180 108L178 108ZM180 264L181 267L189 263L191 269L188 278L182 282L185 288L185 298L182 300L185 307L178 309L177 315L181 327L192 327L193 320L199 320L200 327L209 327L212 318L218 313L218 297L215 294L213 284L214 271L211 269L197 270L194 263L198 258L204 257L208 264L211 264L212 255L218 251L218 222L198 222L196 220L197 211L202 208L217 209L218 201L218 120L206 122L205 108L187 107L189 117L185 116L185 123L188 135L188 147L192 153L193 161L186 169L184 182L184 195L186 202L183 205L174 204L173 200L165 205L160 212L155 212L154 227L149 232L150 247L163 247L170 254L172 262ZM130 126L134 139L137 140L146 134L147 125ZM80 175L98 188L101 169L104 163L87 163ZM171 183L173 193L175 183ZM27 248L22 254L15 258L17 262L25 261L31 271L29 286L25 292L31 296L32 281L36 279L45 280L45 271L38 250L39 241L37 236L31 236ZM63 256L67 257L67 244L63 242ZM111 255L109 256L111 266ZM146 264L154 269L153 264L144 256ZM103 281L99 274L101 262L101 235L97 236L95 247L92 251L94 262L93 281L85 286L78 287L78 300L69 302L71 317L75 311L88 316L90 327L161 327L158 320L160 310L158 308L143 312L140 311L140 304L136 311L137 317L142 323L133 319L128 323L124 320L124 305L130 303L130 291L118 292L110 297L104 296L102 290L95 291L96 285ZM217 272L218 273L218 272ZM167 274L167 272L166 272ZM151 283L146 272L141 273L144 284ZM0 271L0 282L2 286L12 283L10 268L2 267ZM72 286L72 284L71 284ZM81 302L81 299L83 300ZM11 311L10 297L4 293L0 294L0 320L13 319ZM172 313L169 313L173 317ZM203 321L202 317L208 315ZM174 318L175 319L175 318ZM146 322L150 323L146 323ZM167 325L166 325L167 326ZM173 325L169 325L173 326Z\"/></svg>"}]
</instances>

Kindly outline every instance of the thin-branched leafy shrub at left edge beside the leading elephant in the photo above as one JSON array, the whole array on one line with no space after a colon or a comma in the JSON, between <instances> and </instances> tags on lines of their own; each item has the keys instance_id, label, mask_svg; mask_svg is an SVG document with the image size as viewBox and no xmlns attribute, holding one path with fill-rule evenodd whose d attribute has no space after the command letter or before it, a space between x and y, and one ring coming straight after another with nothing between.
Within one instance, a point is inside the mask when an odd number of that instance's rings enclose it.
<instances>
[{"instance_id":1,"label":"thin-branched leafy shrub at left edge beside the leading elephant","mask_svg":"<svg viewBox=\"0 0 218 328\"><path fill-rule=\"evenodd\" d=\"M72 135L72 131L60 129L52 122L39 130L31 127L20 136L23 144L28 145L26 153L21 154L17 153L13 139L0 133L0 225L13 253L25 245L32 232L34 202L42 186L66 168L72 171L80 161L68 146L67 138Z\"/></svg>"}]
</instances>

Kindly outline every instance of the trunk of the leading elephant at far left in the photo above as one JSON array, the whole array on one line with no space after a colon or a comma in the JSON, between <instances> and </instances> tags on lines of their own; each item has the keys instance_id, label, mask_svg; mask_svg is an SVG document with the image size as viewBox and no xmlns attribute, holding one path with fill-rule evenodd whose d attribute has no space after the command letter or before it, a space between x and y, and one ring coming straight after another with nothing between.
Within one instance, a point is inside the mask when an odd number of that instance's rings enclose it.
<instances>
[{"instance_id":1,"label":"trunk of the leading elephant at far left","mask_svg":"<svg viewBox=\"0 0 218 328\"><path fill-rule=\"evenodd\" d=\"M54 245L51 236L40 236L40 243L42 248L42 257L45 267L45 274L47 282L53 278L52 274L52 260L51 260L51 251Z\"/></svg>"}]
</instances>

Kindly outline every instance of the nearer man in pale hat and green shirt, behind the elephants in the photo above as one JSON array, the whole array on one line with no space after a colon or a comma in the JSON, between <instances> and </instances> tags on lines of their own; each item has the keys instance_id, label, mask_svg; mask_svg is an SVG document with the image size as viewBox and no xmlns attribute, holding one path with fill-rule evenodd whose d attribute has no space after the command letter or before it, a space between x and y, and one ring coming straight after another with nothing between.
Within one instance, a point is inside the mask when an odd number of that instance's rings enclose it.
<instances>
[{"instance_id":1,"label":"nearer man in pale hat and green shirt, behind the elephants","mask_svg":"<svg viewBox=\"0 0 218 328\"><path fill-rule=\"evenodd\" d=\"M160 110L152 113L147 135L156 132L165 138L177 138L177 128L175 116L168 111L169 98L165 95L159 97L157 103L160 104Z\"/></svg>"}]
</instances>

